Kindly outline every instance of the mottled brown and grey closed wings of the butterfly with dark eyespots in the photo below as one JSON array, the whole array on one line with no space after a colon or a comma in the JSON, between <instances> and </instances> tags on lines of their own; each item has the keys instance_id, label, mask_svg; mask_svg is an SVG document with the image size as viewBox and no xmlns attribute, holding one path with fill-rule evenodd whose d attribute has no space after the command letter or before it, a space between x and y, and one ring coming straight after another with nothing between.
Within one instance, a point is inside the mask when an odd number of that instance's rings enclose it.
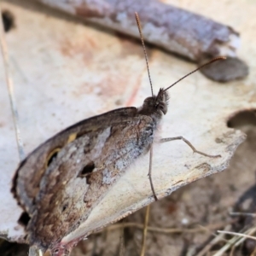
<instances>
[{"instance_id":1,"label":"mottled brown and grey closed wings of the butterfly with dark eyespots","mask_svg":"<svg viewBox=\"0 0 256 256\"><path fill-rule=\"evenodd\" d=\"M31 245L48 249L76 230L140 155L148 152L154 124L137 108L85 119L50 138L16 172L14 193L26 210Z\"/></svg>"}]
</instances>

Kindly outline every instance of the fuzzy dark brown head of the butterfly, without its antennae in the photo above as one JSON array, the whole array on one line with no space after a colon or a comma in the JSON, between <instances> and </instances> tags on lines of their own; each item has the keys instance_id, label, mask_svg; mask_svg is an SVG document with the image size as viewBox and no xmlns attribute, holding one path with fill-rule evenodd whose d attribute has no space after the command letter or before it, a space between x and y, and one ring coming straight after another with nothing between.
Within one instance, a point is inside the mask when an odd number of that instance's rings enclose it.
<instances>
[{"instance_id":1,"label":"fuzzy dark brown head of the butterfly, without its antennae","mask_svg":"<svg viewBox=\"0 0 256 256\"><path fill-rule=\"evenodd\" d=\"M168 93L160 89L157 96L150 96L143 102L143 106L138 109L138 113L148 115L154 122L158 123L163 114L167 113Z\"/></svg>"}]
</instances>

